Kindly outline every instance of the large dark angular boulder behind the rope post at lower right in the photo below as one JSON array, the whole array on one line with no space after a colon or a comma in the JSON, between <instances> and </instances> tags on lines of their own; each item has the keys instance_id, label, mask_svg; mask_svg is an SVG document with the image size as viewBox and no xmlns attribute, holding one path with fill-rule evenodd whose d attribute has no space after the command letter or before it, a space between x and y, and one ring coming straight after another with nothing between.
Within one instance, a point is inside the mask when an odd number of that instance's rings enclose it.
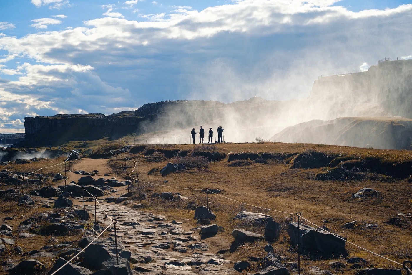
<instances>
[{"instance_id":1,"label":"large dark angular boulder behind the rope post at lower right","mask_svg":"<svg viewBox=\"0 0 412 275\"><path fill-rule=\"evenodd\" d=\"M309 251L318 251L323 253L332 253L336 255L346 254L346 238L341 235L333 235L317 228L300 224L300 232L297 229L297 223L289 223L288 234L290 240L297 244L300 236L300 247ZM339 239L339 238L341 239Z\"/></svg>"}]
</instances>

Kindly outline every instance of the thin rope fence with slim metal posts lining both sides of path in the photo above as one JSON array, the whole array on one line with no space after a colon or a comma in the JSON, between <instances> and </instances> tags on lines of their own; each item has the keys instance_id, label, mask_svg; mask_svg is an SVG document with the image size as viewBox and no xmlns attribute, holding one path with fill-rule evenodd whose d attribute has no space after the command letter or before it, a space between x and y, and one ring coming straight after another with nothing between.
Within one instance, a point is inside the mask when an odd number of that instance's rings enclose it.
<instances>
[{"instance_id":1,"label":"thin rope fence with slim metal posts lining both sides of path","mask_svg":"<svg viewBox=\"0 0 412 275\"><path fill-rule=\"evenodd\" d=\"M112 154L119 155L117 152L112 152ZM71 155L71 154L70 154L70 155ZM35 173L35 172L38 172L38 171L42 171L42 169L52 168L52 167L55 167L55 166L58 166L58 165L66 164L66 162L70 159L70 155L68 156L68 159L66 159L66 161L64 161L64 162L62 162L62 163L60 163L60 164L56 164L56 165L48 166L48 167L43 167L43 168L40 168L40 169L37 170L37 171L33 171L33 172L30 172L30 173L24 173L24 175L30 176L30 177L38 177L38 178L50 178L50 177L43 177L42 175L35 175L34 173ZM350 242L350 241L348 241L347 239L344 239L344 238L342 238L342 237L339 237L339 235L334 234L334 233L332 233L332 232L330 232L330 231L328 231L328 230L320 227L319 225L316 225L316 223L312 222L311 220L309 220L309 219L307 219L307 218L304 218L304 216L302 216L302 213L300 213L300 212L292 213L292 212L287 212L287 211L281 211L281 210L269 209L269 208L265 208L265 207L261 207L261 206L256 206L256 205L253 205L253 204L248 204L248 203L246 203L246 202L241 202L241 201L238 201L238 200L235 200L235 199L232 199L232 198L223 196L223 195L221 195L221 194L212 192L211 190L208 190L208 189L176 187L176 186L171 186L171 185L164 185L164 184L160 184L160 183L152 183L152 182L148 182L148 181L145 181L145 180L140 180L140 179L138 178L138 173L137 173L137 167L138 167L138 166L137 166L137 161L136 161L135 159L133 159L133 158L130 158L130 159L127 159L127 160L133 161L133 163L134 163L134 166L132 166L132 167L133 167L133 170L131 171L131 173L129 173L128 178L135 180L135 183L138 185L138 192L139 192L139 198L140 198L140 199L141 199L141 196L140 196L140 185L139 185L139 183L140 183L140 182L143 182L143 183L147 183L147 184L149 184L149 185L156 185L156 186L166 187L166 188L170 188L170 189L193 190L193 191L206 192L207 205L208 205L208 194L214 194L214 195L216 195L216 196L218 196L218 197L221 197L221 198L223 198L223 199L227 199L227 200L230 200L230 201L233 201L233 202L237 202L237 203L240 203L240 204L243 204L243 205L247 205L247 206L256 207L256 208L258 208L258 209L264 209L264 210L267 210L267 211L273 211L273 212L277 212L277 213L285 213L285 214L290 214L290 215L296 215L297 218L298 218L298 228L299 228L299 225L300 225L300 218L302 218L303 220L306 220L308 223L314 225L314 226L315 226L316 228L318 228L319 230L323 230L324 232L328 232L329 234L331 234L331 235L333 235L333 236L335 236L335 237L337 237L337 238L339 238L339 239L347 242L348 244L352 244L353 246L358 247L359 249L362 249L362 250L364 250L364 251L366 251L366 252L368 252L368 253L371 253L371 254L373 254L373 255L375 255L375 256L378 256L378 257L380 257L380 258L383 258L383 259L385 259L385 260L387 260L387 261L390 261L390 262L392 262L392 263L395 263L395 264L397 264L397 265L403 266L403 268L404 268L405 270L407 270L407 273L408 273L408 274L409 274L409 272L410 272L410 268L411 268L411 266L412 266L412 261L404 261L403 263L399 263L399 262L394 261L394 260L392 260L392 259L390 259L390 258L384 257L384 256L382 256L382 255L380 255L380 254L378 254L378 253L375 253L375 252L373 252L373 251L371 251L371 250L369 250L369 249L366 249L366 248L361 247L361 246L359 246L359 245L357 245L357 244L354 244L353 242ZM137 174L136 178L134 178L134 177L131 176L131 175L134 173L135 170L136 170L136 174ZM50 179L51 179L51 178L50 178ZM68 180L67 180L67 179L63 179L63 180L65 180L65 185L66 185L66 182L68 182ZM81 186L81 185L80 185L80 186ZM90 192L88 192L83 186L81 186L81 187L83 188L84 191L86 191L87 193L89 193L89 194L91 195L91 197L94 197L94 199L95 199L95 208L96 208L96 203L97 203L97 204L99 205L99 207L100 207L100 208L103 210L103 212L105 213L106 218L109 218L109 219L110 219L108 213L105 211L105 209L103 208L103 206L101 206L101 204L98 202L97 197L94 196L94 195L92 195ZM84 194L83 194L83 201L84 201ZM85 206L83 206L83 207L85 207ZM84 208L84 211L86 211L85 208ZM95 210L95 211L96 211L96 210ZM91 245L93 242L95 242L96 239L98 239L98 238L103 234L103 232L105 232L112 224L115 225L116 223L117 223L117 220L115 220L115 219L110 219L110 224L109 224L99 235L97 235L97 236L94 238L94 240L91 241L91 242L87 245L87 247L89 247L89 245ZM96 224L97 224L97 223L96 223L96 217L95 217L95 228L96 228ZM299 232L300 232L300 231L299 231ZM298 240L300 240L300 235L299 235L299 237L298 237ZM116 225L115 225L115 242L116 242L116 247L117 247ZM84 249L82 249L82 251L80 251L80 252L79 252L78 254L76 254L73 258L71 258L69 261L67 261L61 268L63 268L63 267L66 266L68 263L70 263L70 261L72 261L73 259L75 259L75 258L76 258L80 253L82 253L87 247L85 247ZM299 244L299 242L298 242L298 249L297 249L297 251L298 251L298 257L299 257L299 262L298 262L298 263L300 263L300 244ZM117 250L116 250L116 257L117 257ZM59 268L58 270L56 270L56 271L55 271L54 273L52 273L51 275L54 275L55 273L57 273L59 270L61 270L61 268ZM300 274L300 264L298 264L298 273Z\"/></svg>"}]
</instances>

